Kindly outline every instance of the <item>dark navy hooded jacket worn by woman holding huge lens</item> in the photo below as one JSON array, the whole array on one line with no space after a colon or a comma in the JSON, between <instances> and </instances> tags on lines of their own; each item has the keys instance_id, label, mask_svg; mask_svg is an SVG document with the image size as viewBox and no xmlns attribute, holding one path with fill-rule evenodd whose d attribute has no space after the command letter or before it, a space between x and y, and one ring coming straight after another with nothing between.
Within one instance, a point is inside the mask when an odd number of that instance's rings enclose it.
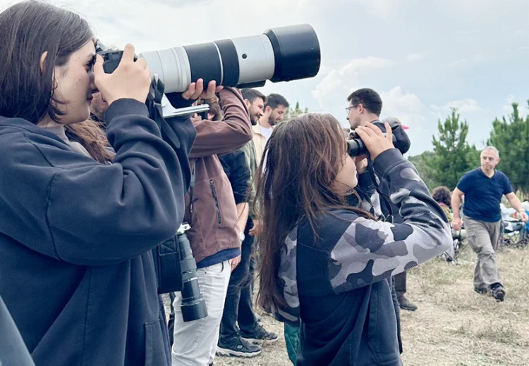
<instances>
[{"instance_id":1,"label":"dark navy hooded jacket worn by woman holding huge lens","mask_svg":"<svg viewBox=\"0 0 529 366\"><path fill-rule=\"evenodd\" d=\"M114 163L0 118L0 294L37 366L170 365L152 251L183 218L190 120L162 140L145 104L105 115Z\"/></svg>"}]
</instances>

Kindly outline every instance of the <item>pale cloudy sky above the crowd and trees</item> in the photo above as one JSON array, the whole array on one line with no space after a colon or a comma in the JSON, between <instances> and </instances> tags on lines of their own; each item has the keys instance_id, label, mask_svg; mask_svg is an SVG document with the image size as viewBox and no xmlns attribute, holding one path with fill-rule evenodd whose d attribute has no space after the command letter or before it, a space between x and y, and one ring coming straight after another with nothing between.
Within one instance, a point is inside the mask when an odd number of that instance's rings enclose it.
<instances>
[{"instance_id":1,"label":"pale cloudy sky above the crowd and trees","mask_svg":"<svg viewBox=\"0 0 529 366\"><path fill-rule=\"evenodd\" d=\"M18 1L0 0L0 9ZM348 126L347 96L370 87L381 117L410 127L409 155L432 149L452 106L484 147L516 101L528 115L529 0L51 0L86 18L99 39L137 53L262 34L308 23L320 40L316 77L267 82L294 105Z\"/></svg>"}]
</instances>

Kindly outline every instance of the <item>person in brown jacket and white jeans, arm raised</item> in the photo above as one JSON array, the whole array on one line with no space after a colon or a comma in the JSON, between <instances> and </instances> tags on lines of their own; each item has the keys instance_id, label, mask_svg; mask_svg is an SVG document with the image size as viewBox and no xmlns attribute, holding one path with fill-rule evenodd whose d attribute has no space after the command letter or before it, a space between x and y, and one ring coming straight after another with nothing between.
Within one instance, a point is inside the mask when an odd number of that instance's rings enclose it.
<instances>
[{"instance_id":1,"label":"person in brown jacket and white jeans, arm raised","mask_svg":"<svg viewBox=\"0 0 529 366\"><path fill-rule=\"evenodd\" d=\"M197 261L198 283L207 306L207 317L183 322L181 293L174 299L173 365L211 365L219 339L219 326L232 267L241 258L241 241L233 191L217 154L225 154L252 139L248 109L238 89L219 92L224 118L193 120L197 137L189 153L195 184L186 196L184 222ZM217 103L212 95L210 105Z\"/></svg>"}]
</instances>

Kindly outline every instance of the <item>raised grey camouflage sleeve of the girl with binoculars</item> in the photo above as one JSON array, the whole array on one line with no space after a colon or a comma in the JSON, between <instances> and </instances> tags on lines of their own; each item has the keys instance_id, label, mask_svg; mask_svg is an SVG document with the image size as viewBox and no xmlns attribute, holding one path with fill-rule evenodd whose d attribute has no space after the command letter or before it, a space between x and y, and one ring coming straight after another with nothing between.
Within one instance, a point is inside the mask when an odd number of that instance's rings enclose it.
<instances>
[{"instance_id":1,"label":"raised grey camouflage sleeve of the girl with binoculars","mask_svg":"<svg viewBox=\"0 0 529 366\"><path fill-rule=\"evenodd\" d=\"M403 223L369 220L353 213L344 217L352 223L332 248L328 267L337 293L409 270L451 246L446 216L413 164L391 149L377 156L373 166L387 182L389 198L399 207Z\"/></svg>"}]
</instances>

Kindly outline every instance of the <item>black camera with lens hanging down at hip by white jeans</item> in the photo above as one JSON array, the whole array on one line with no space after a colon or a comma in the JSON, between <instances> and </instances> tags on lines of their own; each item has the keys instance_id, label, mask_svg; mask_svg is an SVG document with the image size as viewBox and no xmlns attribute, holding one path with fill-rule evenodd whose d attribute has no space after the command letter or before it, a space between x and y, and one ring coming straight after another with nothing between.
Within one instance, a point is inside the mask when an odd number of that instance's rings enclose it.
<instances>
[{"instance_id":1,"label":"black camera with lens hanging down at hip by white jeans","mask_svg":"<svg viewBox=\"0 0 529 366\"><path fill-rule=\"evenodd\" d=\"M184 322L207 317L206 301L198 285L197 263L186 234L190 228L184 222L176 235L157 246L154 253L158 293L181 291Z\"/></svg>"}]
</instances>

